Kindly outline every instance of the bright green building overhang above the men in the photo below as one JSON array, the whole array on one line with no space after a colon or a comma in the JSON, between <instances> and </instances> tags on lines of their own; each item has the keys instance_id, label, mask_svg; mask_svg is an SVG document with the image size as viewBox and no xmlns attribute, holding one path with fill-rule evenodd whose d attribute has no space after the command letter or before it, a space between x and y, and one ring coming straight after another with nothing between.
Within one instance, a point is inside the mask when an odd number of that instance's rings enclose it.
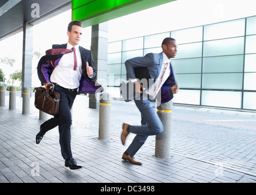
<instances>
[{"instance_id":1,"label":"bright green building overhang above the men","mask_svg":"<svg viewBox=\"0 0 256 195\"><path fill-rule=\"evenodd\" d=\"M171 1L176 0L72 0L72 19L87 27Z\"/></svg>"}]
</instances>

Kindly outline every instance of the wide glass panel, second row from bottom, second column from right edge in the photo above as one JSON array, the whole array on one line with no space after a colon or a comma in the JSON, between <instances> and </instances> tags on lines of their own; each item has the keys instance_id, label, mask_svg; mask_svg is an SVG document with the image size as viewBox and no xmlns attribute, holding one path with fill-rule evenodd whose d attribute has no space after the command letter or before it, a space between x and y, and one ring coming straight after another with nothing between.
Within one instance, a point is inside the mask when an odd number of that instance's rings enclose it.
<instances>
[{"instance_id":1,"label":"wide glass panel, second row from bottom, second column from right edge","mask_svg":"<svg viewBox=\"0 0 256 195\"><path fill-rule=\"evenodd\" d=\"M241 90L243 73L203 74L202 88L219 90Z\"/></svg>"}]
</instances>

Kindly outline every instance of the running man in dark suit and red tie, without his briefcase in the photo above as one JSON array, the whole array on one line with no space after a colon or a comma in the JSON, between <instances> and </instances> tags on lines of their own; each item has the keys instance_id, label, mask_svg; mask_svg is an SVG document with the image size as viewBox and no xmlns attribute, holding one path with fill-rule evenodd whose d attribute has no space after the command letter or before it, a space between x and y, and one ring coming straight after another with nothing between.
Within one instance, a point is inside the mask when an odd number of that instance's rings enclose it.
<instances>
[{"instance_id":1,"label":"running man in dark suit and red tie, without his briefcase","mask_svg":"<svg viewBox=\"0 0 256 195\"><path fill-rule=\"evenodd\" d=\"M47 51L37 66L37 73L42 85L53 85L60 94L59 113L54 118L43 122L40 132L36 135L39 144L48 130L59 126L59 143L61 154L65 159L65 166L70 169L82 168L82 165L73 159L70 147L72 124L71 112L73 101L79 93L99 92L93 81L96 78L94 60L91 51L79 46L82 35L80 21L72 21L67 29L69 37L66 44L54 44L53 49ZM98 90L98 91L97 91Z\"/></svg>"}]
</instances>

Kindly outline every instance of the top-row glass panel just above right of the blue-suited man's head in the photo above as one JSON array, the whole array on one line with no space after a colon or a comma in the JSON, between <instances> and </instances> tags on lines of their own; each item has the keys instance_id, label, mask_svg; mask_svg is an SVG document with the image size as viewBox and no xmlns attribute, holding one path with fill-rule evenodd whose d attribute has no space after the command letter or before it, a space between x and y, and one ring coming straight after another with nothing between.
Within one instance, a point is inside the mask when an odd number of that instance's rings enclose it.
<instances>
[{"instance_id":1,"label":"top-row glass panel just above right of the blue-suited man's head","mask_svg":"<svg viewBox=\"0 0 256 195\"><path fill-rule=\"evenodd\" d=\"M171 31L171 38L175 38L178 44L202 41L203 26Z\"/></svg>"}]
</instances>

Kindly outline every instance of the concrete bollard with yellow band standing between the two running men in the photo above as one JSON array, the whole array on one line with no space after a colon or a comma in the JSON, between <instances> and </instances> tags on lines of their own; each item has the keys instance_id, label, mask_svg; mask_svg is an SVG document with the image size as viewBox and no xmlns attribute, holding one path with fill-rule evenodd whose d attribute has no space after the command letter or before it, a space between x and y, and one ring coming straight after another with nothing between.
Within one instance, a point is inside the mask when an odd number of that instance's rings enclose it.
<instances>
[{"instance_id":1,"label":"concrete bollard with yellow band standing between the two running men","mask_svg":"<svg viewBox=\"0 0 256 195\"><path fill-rule=\"evenodd\" d=\"M100 95L99 105L99 140L110 140L110 113L111 95L103 93Z\"/></svg>"}]
</instances>

